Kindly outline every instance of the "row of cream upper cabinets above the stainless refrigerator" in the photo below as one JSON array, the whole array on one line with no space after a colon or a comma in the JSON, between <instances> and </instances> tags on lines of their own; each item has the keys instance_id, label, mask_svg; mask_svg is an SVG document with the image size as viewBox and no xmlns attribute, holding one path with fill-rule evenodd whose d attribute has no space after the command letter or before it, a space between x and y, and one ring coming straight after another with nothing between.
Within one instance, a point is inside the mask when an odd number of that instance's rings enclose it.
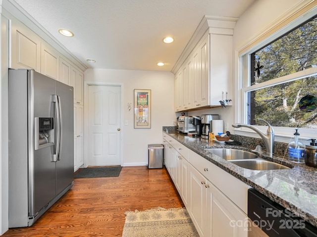
<instances>
[{"instance_id":1,"label":"row of cream upper cabinets above the stainless refrigerator","mask_svg":"<svg viewBox=\"0 0 317 237\"><path fill-rule=\"evenodd\" d=\"M76 63L11 16L9 67L33 69L74 87L76 104L83 105L84 74ZM75 68L76 66L76 68Z\"/></svg>"}]
</instances>

